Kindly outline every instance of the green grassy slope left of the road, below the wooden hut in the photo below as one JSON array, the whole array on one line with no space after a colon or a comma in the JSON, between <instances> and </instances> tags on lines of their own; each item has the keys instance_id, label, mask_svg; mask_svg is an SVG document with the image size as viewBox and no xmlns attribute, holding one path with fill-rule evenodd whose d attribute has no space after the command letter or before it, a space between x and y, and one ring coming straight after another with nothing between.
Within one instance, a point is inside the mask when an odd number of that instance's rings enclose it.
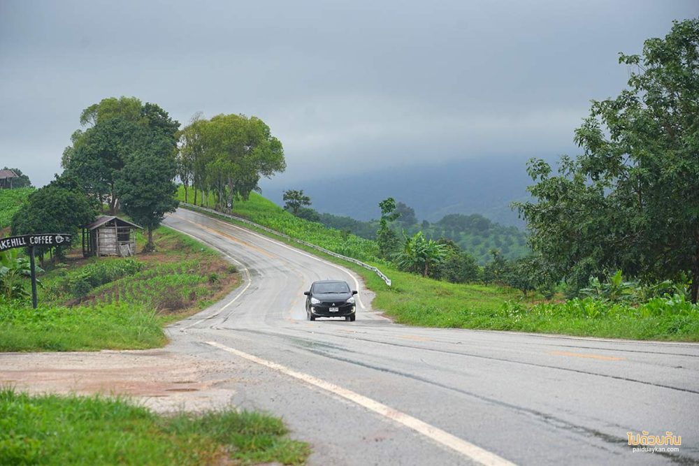
<instances>
[{"instance_id":1,"label":"green grassy slope left of the road, below the wooden hut","mask_svg":"<svg viewBox=\"0 0 699 466\"><path fill-rule=\"evenodd\" d=\"M186 235L159 228L154 238L152 254L78 256L48 265L40 276L38 309L28 300L0 303L0 351L161 347L167 342L163 326L239 283L233 266Z\"/></svg>"}]
</instances>

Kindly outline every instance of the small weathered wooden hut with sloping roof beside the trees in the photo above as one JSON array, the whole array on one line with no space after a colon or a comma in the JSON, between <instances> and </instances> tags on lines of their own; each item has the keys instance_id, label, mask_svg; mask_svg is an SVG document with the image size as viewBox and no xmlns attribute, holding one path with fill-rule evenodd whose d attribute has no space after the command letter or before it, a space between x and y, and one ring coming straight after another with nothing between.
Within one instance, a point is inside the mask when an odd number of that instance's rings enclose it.
<instances>
[{"instance_id":1,"label":"small weathered wooden hut with sloping roof beside the trees","mask_svg":"<svg viewBox=\"0 0 699 466\"><path fill-rule=\"evenodd\" d=\"M133 256L136 254L136 228L143 230L119 217L99 217L82 228L82 255Z\"/></svg>"}]
</instances>

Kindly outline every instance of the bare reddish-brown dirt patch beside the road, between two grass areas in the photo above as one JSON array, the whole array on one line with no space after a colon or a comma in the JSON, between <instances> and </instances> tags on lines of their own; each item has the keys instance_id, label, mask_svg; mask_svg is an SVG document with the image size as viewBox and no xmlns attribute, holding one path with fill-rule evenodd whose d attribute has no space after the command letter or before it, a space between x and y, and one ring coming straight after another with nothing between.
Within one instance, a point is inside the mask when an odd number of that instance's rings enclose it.
<instances>
[{"instance_id":1,"label":"bare reddish-brown dirt patch beside the road, between two grass areas","mask_svg":"<svg viewBox=\"0 0 699 466\"><path fill-rule=\"evenodd\" d=\"M0 354L0 386L29 393L126 395L157 412L229 407L220 363L163 349Z\"/></svg>"}]
</instances>

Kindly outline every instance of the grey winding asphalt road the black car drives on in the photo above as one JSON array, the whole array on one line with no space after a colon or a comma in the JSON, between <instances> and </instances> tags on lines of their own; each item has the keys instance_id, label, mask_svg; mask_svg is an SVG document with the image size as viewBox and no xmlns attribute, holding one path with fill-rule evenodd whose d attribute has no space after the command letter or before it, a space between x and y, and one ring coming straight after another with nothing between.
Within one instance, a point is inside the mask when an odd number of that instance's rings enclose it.
<instances>
[{"instance_id":1,"label":"grey winding asphalt road the black car drives on","mask_svg":"<svg viewBox=\"0 0 699 466\"><path fill-rule=\"evenodd\" d=\"M400 326L338 265L188 210L164 223L244 278L168 349L229 363L231 402L282 416L312 465L699 464L697 344ZM359 288L355 322L305 320L317 279ZM634 452L642 431L682 445Z\"/></svg>"}]
</instances>

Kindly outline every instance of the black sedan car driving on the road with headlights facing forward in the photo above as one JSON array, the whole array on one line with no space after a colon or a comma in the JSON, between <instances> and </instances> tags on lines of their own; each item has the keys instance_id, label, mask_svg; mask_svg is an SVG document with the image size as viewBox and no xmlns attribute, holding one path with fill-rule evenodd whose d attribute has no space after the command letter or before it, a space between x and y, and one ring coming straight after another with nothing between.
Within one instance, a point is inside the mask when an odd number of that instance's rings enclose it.
<instances>
[{"instance_id":1,"label":"black sedan car driving on the road with headlights facing forward","mask_svg":"<svg viewBox=\"0 0 699 466\"><path fill-rule=\"evenodd\" d=\"M313 282L310 291L304 291L306 296L306 314L308 320L315 321L316 317L345 317L346 321L354 321L354 295L356 290L349 288L342 280L320 280Z\"/></svg>"}]
</instances>

